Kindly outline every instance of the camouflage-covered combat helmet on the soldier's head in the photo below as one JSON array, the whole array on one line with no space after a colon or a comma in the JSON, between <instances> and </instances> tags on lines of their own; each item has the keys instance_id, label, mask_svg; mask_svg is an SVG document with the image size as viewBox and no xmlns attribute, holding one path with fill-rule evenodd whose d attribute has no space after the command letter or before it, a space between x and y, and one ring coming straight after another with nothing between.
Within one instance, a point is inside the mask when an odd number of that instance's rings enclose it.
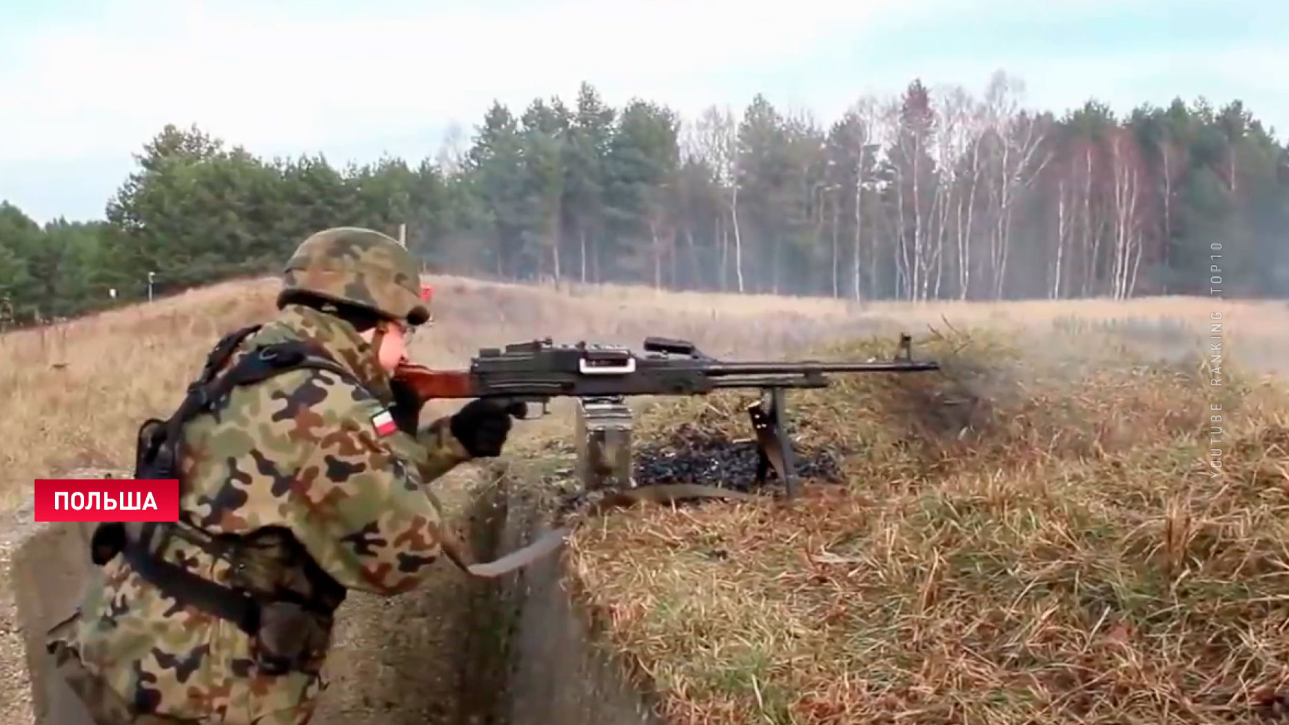
<instances>
[{"instance_id":1,"label":"camouflage-covered combat helmet on the soldier's head","mask_svg":"<svg viewBox=\"0 0 1289 725\"><path fill-rule=\"evenodd\" d=\"M420 264L393 239L358 227L335 227L305 239L286 262L281 307L293 293L365 307L420 325L429 320Z\"/></svg>"}]
</instances>

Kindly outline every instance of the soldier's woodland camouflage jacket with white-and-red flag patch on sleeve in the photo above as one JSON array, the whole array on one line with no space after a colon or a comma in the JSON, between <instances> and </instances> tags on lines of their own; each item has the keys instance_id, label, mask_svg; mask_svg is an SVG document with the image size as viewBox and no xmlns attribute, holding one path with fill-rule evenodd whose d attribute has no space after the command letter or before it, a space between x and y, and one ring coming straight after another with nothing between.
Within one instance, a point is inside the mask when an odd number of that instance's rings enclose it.
<instances>
[{"instance_id":1,"label":"soldier's woodland camouflage jacket with white-and-red flag patch on sleeve","mask_svg":"<svg viewBox=\"0 0 1289 725\"><path fill-rule=\"evenodd\" d=\"M289 306L241 347L291 339L321 343L366 390L317 369L235 388L184 428L180 508L211 534L287 529L344 587L406 592L440 553L442 513L425 485L469 454L447 418L415 440L378 431L373 418L392 401L388 377L370 346L335 317ZM229 581L226 560L182 539L171 539L164 556ZM307 590L298 569L285 571L262 575ZM84 670L133 708L228 724L308 717L324 686L321 662L311 672L267 675L253 663L253 637L231 622L162 597L122 556L102 573L79 617L50 641L79 653Z\"/></svg>"}]
</instances>

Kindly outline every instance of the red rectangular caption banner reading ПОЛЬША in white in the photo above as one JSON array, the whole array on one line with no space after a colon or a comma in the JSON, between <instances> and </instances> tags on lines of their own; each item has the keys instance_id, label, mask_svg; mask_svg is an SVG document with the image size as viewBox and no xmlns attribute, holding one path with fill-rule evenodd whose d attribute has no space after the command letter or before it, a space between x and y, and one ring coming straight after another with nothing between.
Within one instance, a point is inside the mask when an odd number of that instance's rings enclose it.
<instances>
[{"instance_id":1,"label":"red rectangular caption banner reading \u041f\u041e\u041b\u042c\u0428\u0410 in white","mask_svg":"<svg viewBox=\"0 0 1289 725\"><path fill-rule=\"evenodd\" d=\"M179 481L36 479L36 521L178 521Z\"/></svg>"}]
</instances>

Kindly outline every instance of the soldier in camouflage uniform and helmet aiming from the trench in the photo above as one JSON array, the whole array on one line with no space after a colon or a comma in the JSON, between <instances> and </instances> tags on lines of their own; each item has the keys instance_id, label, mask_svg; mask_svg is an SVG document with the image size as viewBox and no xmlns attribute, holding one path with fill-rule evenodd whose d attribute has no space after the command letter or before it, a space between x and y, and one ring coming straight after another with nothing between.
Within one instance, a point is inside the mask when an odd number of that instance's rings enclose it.
<instances>
[{"instance_id":1,"label":"soldier in camouflage uniform and helmet aiming from the trench","mask_svg":"<svg viewBox=\"0 0 1289 725\"><path fill-rule=\"evenodd\" d=\"M418 263L394 240L311 236L278 308L219 370L284 342L331 368L235 387L183 423L180 522L130 525L49 633L99 725L307 722L344 591L420 584L441 552L428 484L500 454L512 410L474 400L420 427L420 401L391 378L429 319Z\"/></svg>"}]
</instances>

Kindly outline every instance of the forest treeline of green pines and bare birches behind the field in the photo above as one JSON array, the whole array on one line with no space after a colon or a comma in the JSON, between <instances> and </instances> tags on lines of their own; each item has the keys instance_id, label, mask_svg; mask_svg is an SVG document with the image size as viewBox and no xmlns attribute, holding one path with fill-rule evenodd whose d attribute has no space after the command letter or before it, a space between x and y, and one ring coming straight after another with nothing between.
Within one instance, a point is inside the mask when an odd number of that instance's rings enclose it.
<instances>
[{"instance_id":1,"label":"forest treeline of green pines and bare birches behind the field","mask_svg":"<svg viewBox=\"0 0 1289 725\"><path fill-rule=\"evenodd\" d=\"M1279 295L1289 147L1240 101L1057 115L996 72L914 80L839 119L576 98L494 103L419 161L264 159L165 126L104 221L0 204L0 315L23 324L275 273L308 233L397 235L428 268L857 299Z\"/></svg>"}]
</instances>

